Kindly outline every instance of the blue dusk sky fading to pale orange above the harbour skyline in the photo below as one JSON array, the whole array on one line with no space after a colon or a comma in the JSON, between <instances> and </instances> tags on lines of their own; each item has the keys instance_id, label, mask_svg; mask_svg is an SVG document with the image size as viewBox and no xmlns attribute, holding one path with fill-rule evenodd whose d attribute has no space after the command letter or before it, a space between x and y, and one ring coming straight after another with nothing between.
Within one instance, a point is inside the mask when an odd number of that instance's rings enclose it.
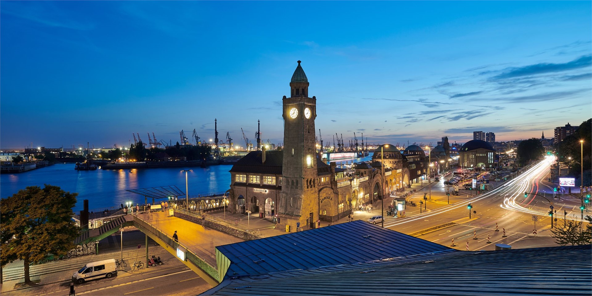
<instances>
[{"instance_id":1,"label":"blue dusk sky fading to pale orange above the harbour skyline","mask_svg":"<svg viewBox=\"0 0 592 296\"><path fill-rule=\"evenodd\" d=\"M297 60L325 142L552 137L592 114L591 3L1 1L0 148L283 142Z\"/></svg>"}]
</instances>

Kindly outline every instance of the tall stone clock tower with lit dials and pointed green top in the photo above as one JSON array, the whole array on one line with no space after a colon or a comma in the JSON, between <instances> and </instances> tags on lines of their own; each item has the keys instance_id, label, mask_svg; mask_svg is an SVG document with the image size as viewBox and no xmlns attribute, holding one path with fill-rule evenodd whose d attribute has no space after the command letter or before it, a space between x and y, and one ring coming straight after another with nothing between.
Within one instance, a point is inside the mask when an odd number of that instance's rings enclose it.
<instances>
[{"instance_id":1,"label":"tall stone clock tower with lit dials and pointed green top","mask_svg":"<svg viewBox=\"0 0 592 296\"><path fill-rule=\"evenodd\" d=\"M308 97L308 79L300 61L290 81L290 94L283 98L284 159L278 227L289 225L290 231L296 231L297 223L311 229L319 219L314 128L317 99Z\"/></svg>"}]
</instances>

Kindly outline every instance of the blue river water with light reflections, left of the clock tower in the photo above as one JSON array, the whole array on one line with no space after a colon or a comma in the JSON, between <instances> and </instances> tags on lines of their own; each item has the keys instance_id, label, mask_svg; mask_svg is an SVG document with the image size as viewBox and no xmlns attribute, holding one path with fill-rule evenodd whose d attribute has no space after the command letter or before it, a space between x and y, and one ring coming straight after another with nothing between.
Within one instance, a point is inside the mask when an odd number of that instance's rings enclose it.
<instances>
[{"instance_id":1,"label":"blue river water with light reflections, left of the clock tower","mask_svg":"<svg viewBox=\"0 0 592 296\"><path fill-rule=\"evenodd\" d=\"M372 156L356 159L337 160L339 163L371 160ZM127 192L129 189L143 189L160 186L177 186L185 192L185 172L188 172L189 197L207 195L230 189L232 165L208 166L207 168L158 168L158 169L120 169L78 171L73 163L56 163L45 168L23 173L0 175L0 196L7 198L27 186L44 184L60 186L65 191L78 192L78 202L73 210L82 210L83 200L88 200L89 210L102 211L105 208L119 207L128 201L143 204L144 197ZM151 199L148 202L152 202Z\"/></svg>"}]
</instances>

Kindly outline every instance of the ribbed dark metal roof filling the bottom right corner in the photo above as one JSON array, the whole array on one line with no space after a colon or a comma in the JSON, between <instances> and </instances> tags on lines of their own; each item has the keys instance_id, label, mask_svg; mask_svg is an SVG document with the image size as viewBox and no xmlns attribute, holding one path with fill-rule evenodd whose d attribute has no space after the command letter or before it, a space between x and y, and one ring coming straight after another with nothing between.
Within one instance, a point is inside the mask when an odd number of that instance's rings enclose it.
<instances>
[{"instance_id":1,"label":"ribbed dark metal roof filling the bottom right corner","mask_svg":"<svg viewBox=\"0 0 592 296\"><path fill-rule=\"evenodd\" d=\"M590 244L480 252L455 250L431 253L431 258L407 263L393 260L352 269L346 265L334 266L332 270L292 271L252 277L250 282L225 280L205 294L590 295L591 251Z\"/></svg>"}]
</instances>

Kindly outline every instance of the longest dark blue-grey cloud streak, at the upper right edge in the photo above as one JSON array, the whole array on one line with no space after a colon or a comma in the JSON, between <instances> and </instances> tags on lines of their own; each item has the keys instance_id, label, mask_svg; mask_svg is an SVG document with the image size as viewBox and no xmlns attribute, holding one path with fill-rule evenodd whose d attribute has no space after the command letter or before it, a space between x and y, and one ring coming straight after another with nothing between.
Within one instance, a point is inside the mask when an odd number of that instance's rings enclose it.
<instances>
[{"instance_id":1,"label":"longest dark blue-grey cloud streak, at the upper right edge","mask_svg":"<svg viewBox=\"0 0 592 296\"><path fill-rule=\"evenodd\" d=\"M567 63L538 63L523 67L508 67L503 73L493 76L493 79L507 79L520 76L537 75L543 73L562 72L580 69L592 65L592 56L581 56Z\"/></svg>"}]
</instances>

